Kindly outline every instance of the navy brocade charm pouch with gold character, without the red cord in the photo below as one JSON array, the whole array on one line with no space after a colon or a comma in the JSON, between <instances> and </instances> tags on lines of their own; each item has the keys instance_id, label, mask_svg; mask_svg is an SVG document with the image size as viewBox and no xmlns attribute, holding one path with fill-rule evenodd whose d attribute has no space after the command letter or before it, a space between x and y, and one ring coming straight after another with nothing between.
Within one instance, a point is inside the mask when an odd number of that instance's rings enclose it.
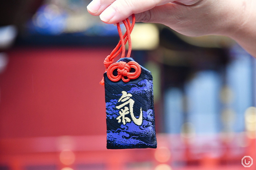
<instances>
[{"instance_id":1,"label":"navy brocade charm pouch with gold character, without the red cord","mask_svg":"<svg viewBox=\"0 0 256 170\"><path fill-rule=\"evenodd\" d=\"M128 63L134 60L120 58L119 61ZM104 73L107 149L156 148L153 78L150 71L140 67L140 76L127 83L122 80L110 81L107 73ZM123 95L128 97L122 98ZM125 115L122 114L124 111ZM142 122L139 121L140 115Z\"/></svg>"}]
</instances>

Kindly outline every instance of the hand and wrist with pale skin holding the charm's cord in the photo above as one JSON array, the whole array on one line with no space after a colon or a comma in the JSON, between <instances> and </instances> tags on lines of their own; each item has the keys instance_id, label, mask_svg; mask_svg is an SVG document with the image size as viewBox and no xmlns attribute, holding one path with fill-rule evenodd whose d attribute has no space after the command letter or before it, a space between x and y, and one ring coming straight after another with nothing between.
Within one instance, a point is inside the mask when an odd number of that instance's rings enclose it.
<instances>
[{"instance_id":1,"label":"hand and wrist with pale skin holding the charm's cord","mask_svg":"<svg viewBox=\"0 0 256 170\"><path fill-rule=\"evenodd\" d=\"M92 0L87 10L107 24L134 13L187 36L225 35L256 57L255 0Z\"/></svg>"}]
</instances>

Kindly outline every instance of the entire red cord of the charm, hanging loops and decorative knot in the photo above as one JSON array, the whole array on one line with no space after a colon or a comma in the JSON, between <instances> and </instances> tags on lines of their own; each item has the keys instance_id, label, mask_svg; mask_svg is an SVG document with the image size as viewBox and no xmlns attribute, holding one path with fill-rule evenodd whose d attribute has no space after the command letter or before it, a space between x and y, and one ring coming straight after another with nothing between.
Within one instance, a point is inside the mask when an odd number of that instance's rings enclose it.
<instances>
[{"instance_id":1,"label":"entire red cord of the charm, hanging loops and decorative knot","mask_svg":"<svg viewBox=\"0 0 256 170\"><path fill-rule=\"evenodd\" d=\"M130 20L128 18L123 20L123 23L124 23L124 26L126 28L125 34L124 35L122 34L122 30L121 30L120 24L116 23L118 34L120 36L120 41L116 45L115 49L110 53L110 55L108 55L105 58L105 60L103 62L105 67L106 67L106 71L105 72L107 72L108 78L111 81L119 81L122 78L122 80L124 82L128 82L128 81L130 81L130 79L138 78L140 73L141 73L140 65L138 63L136 63L135 61L128 62L130 64L125 63L123 61L120 61L118 63L112 64L113 61L114 61L114 58L116 56L118 56L121 51L122 51L121 58L125 57L125 44L127 43L127 41L128 41L127 57L130 57L130 55L131 55L131 51L132 51L131 32L132 32L132 29L133 29L134 24L135 24L135 15L132 14L132 24L130 23ZM135 72L130 73L131 68L134 68ZM117 69L117 76L113 75L113 71L115 69ZM124 77L127 77L127 79L125 79ZM104 85L104 77L100 81L100 84Z\"/></svg>"}]
</instances>

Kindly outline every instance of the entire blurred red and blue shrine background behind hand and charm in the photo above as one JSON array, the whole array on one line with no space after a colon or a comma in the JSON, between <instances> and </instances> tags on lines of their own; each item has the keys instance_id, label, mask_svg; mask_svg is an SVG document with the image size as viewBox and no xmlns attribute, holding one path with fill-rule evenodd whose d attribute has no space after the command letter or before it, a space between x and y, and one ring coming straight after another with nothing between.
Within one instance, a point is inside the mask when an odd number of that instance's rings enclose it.
<instances>
[{"instance_id":1,"label":"entire blurred red and blue shrine background behind hand and charm","mask_svg":"<svg viewBox=\"0 0 256 170\"><path fill-rule=\"evenodd\" d=\"M89 3L1 2L0 170L242 170L244 156L256 161L255 58L227 37L145 23L132 32L132 58L154 78L158 146L107 150L99 82L119 36Z\"/></svg>"}]
</instances>

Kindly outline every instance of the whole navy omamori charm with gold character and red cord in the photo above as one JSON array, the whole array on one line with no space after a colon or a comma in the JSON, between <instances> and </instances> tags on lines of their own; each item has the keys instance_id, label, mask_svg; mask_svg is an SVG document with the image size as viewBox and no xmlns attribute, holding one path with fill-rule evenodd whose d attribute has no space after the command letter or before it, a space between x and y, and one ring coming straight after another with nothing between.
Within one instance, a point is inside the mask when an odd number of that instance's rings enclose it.
<instances>
[{"instance_id":1,"label":"whole navy omamori charm with gold character and red cord","mask_svg":"<svg viewBox=\"0 0 256 170\"><path fill-rule=\"evenodd\" d=\"M105 58L106 72L100 81L100 84L105 85L107 148L156 148L153 78L150 71L130 58L134 14L132 24L128 18L123 23L126 33L122 34L117 23L120 41ZM125 58L127 41L129 48ZM121 51L121 58L113 63Z\"/></svg>"}]
</instances>

